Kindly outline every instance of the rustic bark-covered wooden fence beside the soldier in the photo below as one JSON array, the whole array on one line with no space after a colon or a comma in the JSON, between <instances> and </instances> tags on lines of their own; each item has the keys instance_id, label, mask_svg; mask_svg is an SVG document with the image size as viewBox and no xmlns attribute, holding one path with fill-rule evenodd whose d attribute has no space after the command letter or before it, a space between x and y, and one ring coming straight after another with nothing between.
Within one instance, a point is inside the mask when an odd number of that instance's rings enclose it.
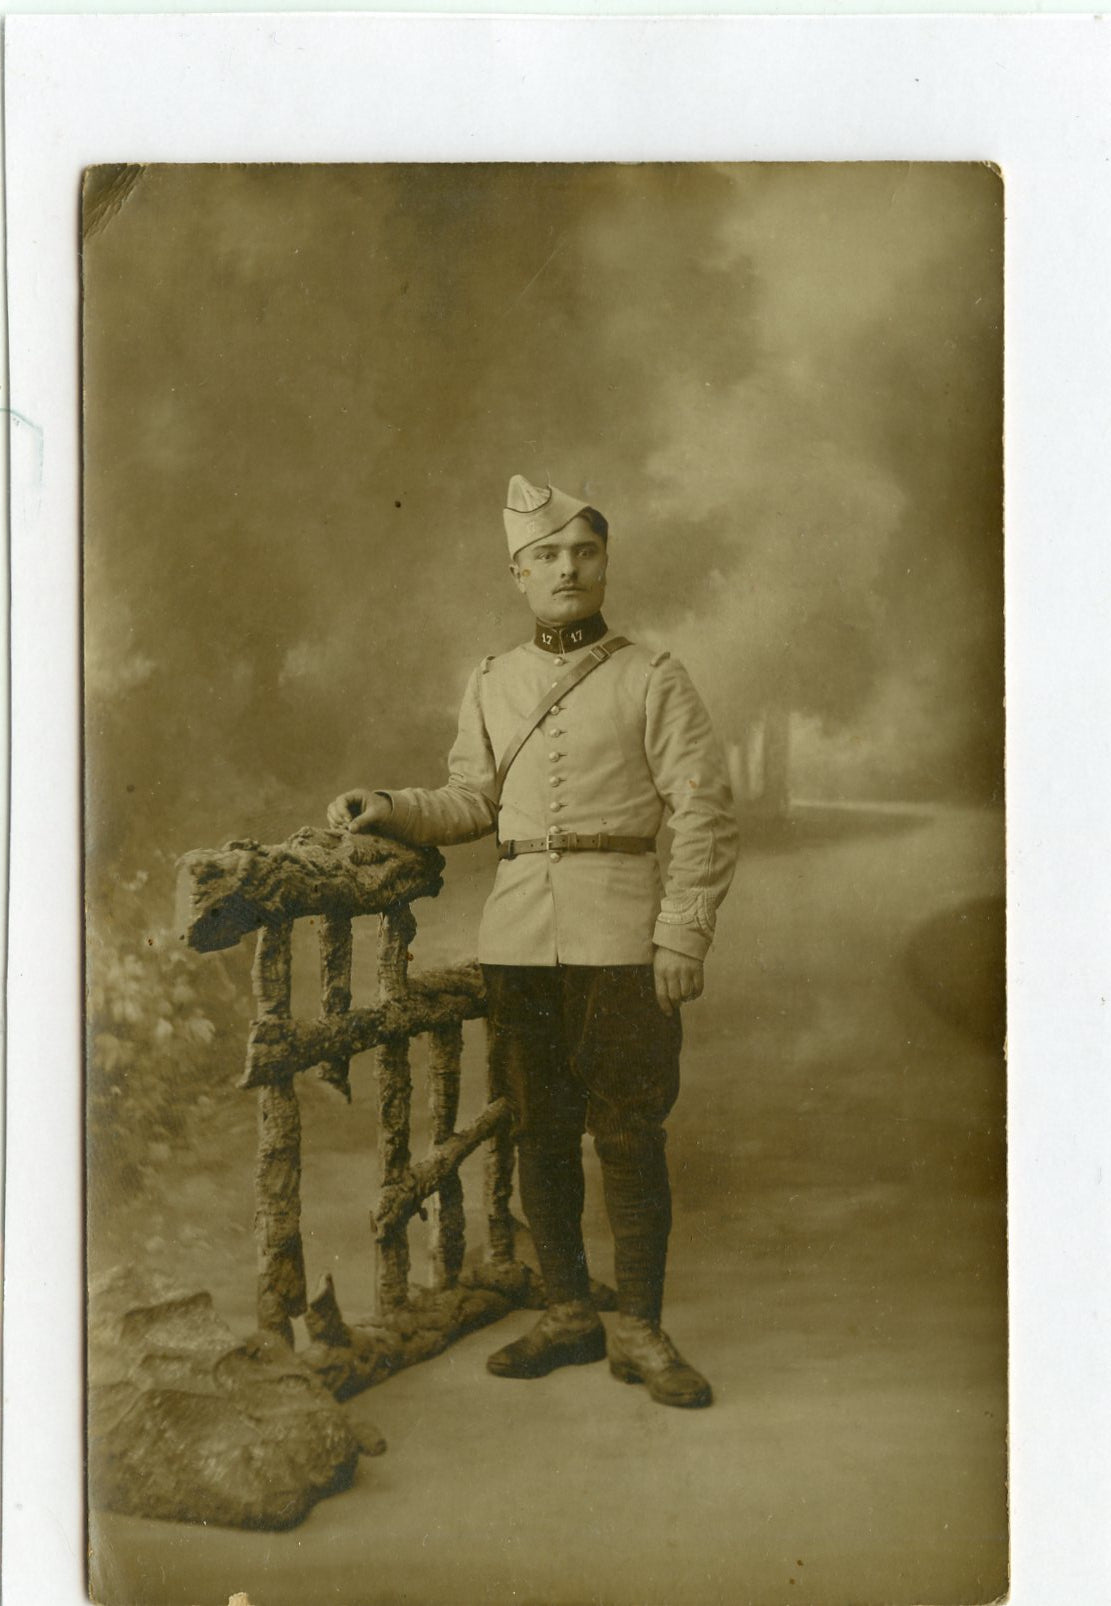
<instances>
[{"instance_id":1,"label":"rustic bark-covered wooden fence beside the soldier","mask_svg":"<svg viewBox=\"0 0 1111 1606\"><path fill-rule=\"evenodd\" d=\"M499 1087L456 1131L462 1023L485 1015L477 964L409 970L416 898L442 887L443 858L382 837L303 829L284 843L230 842L186 853L178 867L178 930L199 952L233 948L257 931L255 1017L241 1087L257 1089L255 1245L258 1327L294 1343L294 1317L310 1335L305 1359L340 1396L425 1359L515 1304L538 1306L535 1274L514 1259L512 1135ZM352 922L377 915L374 1004L352 1004ZM294 922L319 933L321 1013L291 1012ZM429 1036L430 1148L411 1155L409 1044ZM331 1277L308 1299L300 1230L300 1110L295 1079L315 1071L350 1100L350 1062L377 1050L379 1196L371 1211L374 1315L348 1327ZM488 1073L490 1076L490 1073ZM459 1166L482 1143L486 1241L464 1272L466 1216ZM432 1282L409 1280L409 1224L429 1221Z\"/></svg>"}]
</instances>

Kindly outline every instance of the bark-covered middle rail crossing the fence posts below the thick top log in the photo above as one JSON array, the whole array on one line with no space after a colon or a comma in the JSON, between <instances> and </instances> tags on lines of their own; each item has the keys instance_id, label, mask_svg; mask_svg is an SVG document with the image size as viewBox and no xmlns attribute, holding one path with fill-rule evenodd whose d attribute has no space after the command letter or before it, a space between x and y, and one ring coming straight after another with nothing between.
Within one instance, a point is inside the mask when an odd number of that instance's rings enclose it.
<instances>
[{"instance_id":1,"label":"bark-covered middle rail crossing the fence posts below the thick top log","mask_svg":"<svg viewBox=\"0 0 1111 1606\"><path fill-rule=\"evenodd\" d=\"M286 1073L321 1062L350 1060L398 1037L419 1037L486 1013L478 965L419 973L387 1004L353 1009L323 1020L255 1020L247 1037L241 1087L263 1087Z\"/></svg>"}]
</instances>

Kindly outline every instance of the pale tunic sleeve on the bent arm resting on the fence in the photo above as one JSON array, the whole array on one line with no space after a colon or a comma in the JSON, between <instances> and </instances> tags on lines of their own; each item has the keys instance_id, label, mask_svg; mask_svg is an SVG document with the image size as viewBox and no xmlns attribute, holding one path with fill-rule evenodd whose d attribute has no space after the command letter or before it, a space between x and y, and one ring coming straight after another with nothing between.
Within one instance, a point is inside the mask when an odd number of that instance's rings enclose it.
<instances>
[{"instance_id":1,"label":"pale tunic sleeve on the bent arm resting on the fence","mask_svg":"<svg viewBox=\"0 0 1111 1606\"><path fill-rule=\"evenodd\" d=\"M486 837L498 819L494 764L478 695L480 670L467 681L459 729L448 755L448 784L384 792L392 811L384 830L401 842L450 845Z\"/></svg>"}]
</instances>

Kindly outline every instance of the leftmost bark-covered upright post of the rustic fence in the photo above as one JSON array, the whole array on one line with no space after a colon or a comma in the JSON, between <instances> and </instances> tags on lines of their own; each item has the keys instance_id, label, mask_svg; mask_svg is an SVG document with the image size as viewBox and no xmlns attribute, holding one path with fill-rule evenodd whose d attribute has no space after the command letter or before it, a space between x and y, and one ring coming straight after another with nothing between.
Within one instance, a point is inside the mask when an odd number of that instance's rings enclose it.
<instances>
[{"instance_id":1,"label":"leftmost bark-covered upright post of the rustic fence","mask_svg":"<svg viewBox=\"0 0 1111 1606\"><path fill-rule=\"evenodd\" d=\"M258 931L252 983L258 1018L287 1020L291 991L289 920ZM305 1251L300 1237L300 1108L294 1071L258 1089L255 1161L255 1246L258 1327L294 1341L291 1317L305 1310Z\"/></svg>"}]
</instances>

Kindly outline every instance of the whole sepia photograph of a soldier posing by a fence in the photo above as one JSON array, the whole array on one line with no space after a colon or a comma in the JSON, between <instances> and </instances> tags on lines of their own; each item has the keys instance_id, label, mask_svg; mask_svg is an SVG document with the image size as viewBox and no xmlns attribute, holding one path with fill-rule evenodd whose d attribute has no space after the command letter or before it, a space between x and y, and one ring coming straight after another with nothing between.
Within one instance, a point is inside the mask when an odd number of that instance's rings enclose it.
<instances>
[{"instance_id":1,"label":"whole sepia photograph of a soldier posing by a fence","mask_svg":"<svg viewBox=\"0 0 1111 1606\"><path fill-rule=\"evenodd\" d=\"M1003 194L85 172L95 1601L1007 1595Z\"/></svg>"}]
</instances>

